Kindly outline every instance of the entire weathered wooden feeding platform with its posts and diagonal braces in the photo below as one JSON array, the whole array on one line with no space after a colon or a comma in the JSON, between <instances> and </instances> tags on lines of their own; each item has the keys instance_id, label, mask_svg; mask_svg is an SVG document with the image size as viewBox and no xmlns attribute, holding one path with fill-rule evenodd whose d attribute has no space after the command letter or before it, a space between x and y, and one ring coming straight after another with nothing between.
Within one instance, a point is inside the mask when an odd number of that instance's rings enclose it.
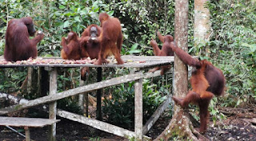
<instances>
[{"instance_id":1,"label":"entire weathered wooden feeding platform with its posts and diagonal braces","mask_svg":"<svg viewBox=\"0 0 256 141\"><path fill-rule=\"evenodd\" d=\"M40 58L36 60L6 62L0 58L0 68L17 68L17 67L45 67L50 72L50 95L43 96L35 100L27 101L23 104L16 104L10 107L0 109L0 116L10 112L22 110L24 108L31 108L40 104L50 104L49 114L50 119L56 119L56 116L61 116L66 119L71 119L79 123L84 123L91 127L98 128L102 131L110 132L114 135L122 137L135 137L136 140L150 140L146 133L157 121L159 116L168 107L171 101L171 96L158 107L150 119L143 125L142 120L142 79L154 76L160 76L160 71L143 72L142 69L152 69L156 66L170 65L174 61L174 57L158 57L158 56L122 56L122 60L126 63L124 65L116 65L110 61L108 65L94 65L94 61L80 60L80 61L65 61L60 57ZM98 82L94 84L87 84L78 88L66 90L64 92L57 92L57 70L58 68L76 68L76 67L96 67L98 68ZM102 68L134 68L130 74L111 78L110 80L102 80ZM68 96L83 96L83 93L97 90L97 115L101 116L101 89L117 84L135 81L134 84L134 117L135 125L134 131L126 130L122 127L111 125L110 123L102 122L101 119L90 119L85 116L80 116L74 113L66 112L57 109L57 100L66 98ZM50 140L56 139L56 123L51 125Z\"/></svg>"}]
</instances>

